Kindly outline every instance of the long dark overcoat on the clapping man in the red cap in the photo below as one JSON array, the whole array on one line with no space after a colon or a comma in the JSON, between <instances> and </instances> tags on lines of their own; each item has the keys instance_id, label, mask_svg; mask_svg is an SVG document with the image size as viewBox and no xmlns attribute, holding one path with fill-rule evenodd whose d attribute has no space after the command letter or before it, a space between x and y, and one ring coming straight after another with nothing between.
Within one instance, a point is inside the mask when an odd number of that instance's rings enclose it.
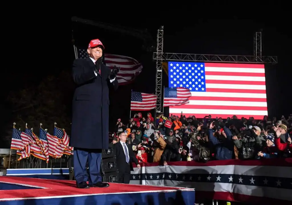
<instances>
[{"instance_id":1,"label":"long dark overcoat on the clapping man in the red cap","mask_svg":"<svg viewBox=\"0 0 292 205\"><path fill-rule=\"evenodd\" d=\"M75 59L72 75L77 84L72 100L70 146L85 149L108 149L109 145L109 87L118 88L117 78L110 83L110 68L95 64L87 57Z\"/></svg>"}]
</instances>

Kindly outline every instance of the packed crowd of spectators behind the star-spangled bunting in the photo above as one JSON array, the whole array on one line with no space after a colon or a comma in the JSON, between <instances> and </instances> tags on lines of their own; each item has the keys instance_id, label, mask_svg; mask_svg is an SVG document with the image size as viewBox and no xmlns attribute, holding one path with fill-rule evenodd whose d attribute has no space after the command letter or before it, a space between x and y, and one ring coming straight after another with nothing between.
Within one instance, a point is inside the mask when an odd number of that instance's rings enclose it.
<instances>
[{"instance_id":1,"label":"packed crowd of spectators behind the star-spangled bunting","mask_svg":"<svg viewBox=\"0 0 292 205\"><path fill-rule=\"evenodd\" d=\"M238 119L234 115L223 120L183 113L180 117L159 114L154 119L151 113L143 117L139 112L127 123L118 119L112 143L125 132L139 162L164 165L170 161L285 158L292 157L291 126L292 114L287 119Z\"/></svg>"}]
</instances>

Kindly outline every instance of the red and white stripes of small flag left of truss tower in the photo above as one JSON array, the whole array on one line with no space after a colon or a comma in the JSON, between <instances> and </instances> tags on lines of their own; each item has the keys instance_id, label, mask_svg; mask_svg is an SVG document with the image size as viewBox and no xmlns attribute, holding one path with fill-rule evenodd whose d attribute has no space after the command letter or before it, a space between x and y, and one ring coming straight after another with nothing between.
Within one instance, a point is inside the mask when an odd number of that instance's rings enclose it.
<instances>
[{"instance_id":1,"label":"red and white stripes of small flag left of truss tower","mask_svg":"<svg viewBox=\"0 0 292 205\"><path fill-rule=\"evenodd\" d=\"M151 110L156 108L157 96L154 94L141 93L142 102L131 101L131 110Z\"/></svg>"}]
</instances>

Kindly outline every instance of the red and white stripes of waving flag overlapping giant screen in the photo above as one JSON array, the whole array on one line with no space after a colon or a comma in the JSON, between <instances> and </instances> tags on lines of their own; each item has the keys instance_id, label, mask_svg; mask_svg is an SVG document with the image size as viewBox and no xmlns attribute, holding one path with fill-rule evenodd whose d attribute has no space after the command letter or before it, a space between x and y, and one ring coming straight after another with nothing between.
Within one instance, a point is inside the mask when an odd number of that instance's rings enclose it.
<instances>
[{"instance_id":1,"label":"red and white stripes of waving flag overlapping giant screen","mask_svg":"<svg viewBox=\"0 0 292 205\"><path fill-rule=\"evenodd\" d=\"M163 107L185 105L190 102L189 98L192 93L188 88L176 88L176 96L177 98L164 98Z\"/></svg>"}]
</instances>

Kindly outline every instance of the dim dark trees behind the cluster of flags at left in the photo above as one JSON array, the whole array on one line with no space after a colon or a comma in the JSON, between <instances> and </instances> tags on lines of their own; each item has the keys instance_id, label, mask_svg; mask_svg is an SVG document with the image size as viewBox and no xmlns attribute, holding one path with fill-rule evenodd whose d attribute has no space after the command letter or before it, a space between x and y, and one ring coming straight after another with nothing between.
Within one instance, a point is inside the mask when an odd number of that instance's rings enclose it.
<instances>
[{"instance_id":1,"label":"dim dark trees behind the cluster of flags at left","mask_svg":"<svg viewBox=\"0 0 292 205\"><path fill-rule=\"evenodd\" d=\"M53 134L56 122L70 134L73 92L74 83L68 71L44 77L35 86L26 85L18 91L11 91L6 102L10 105L10 114L6 116L6 134L2 135L5 137L2 140L11 140L13 122L22 130L27 123L28 128L34 128L36 135L39 135L40 123L42 128Z\"/></svg>"}]
</instances>

